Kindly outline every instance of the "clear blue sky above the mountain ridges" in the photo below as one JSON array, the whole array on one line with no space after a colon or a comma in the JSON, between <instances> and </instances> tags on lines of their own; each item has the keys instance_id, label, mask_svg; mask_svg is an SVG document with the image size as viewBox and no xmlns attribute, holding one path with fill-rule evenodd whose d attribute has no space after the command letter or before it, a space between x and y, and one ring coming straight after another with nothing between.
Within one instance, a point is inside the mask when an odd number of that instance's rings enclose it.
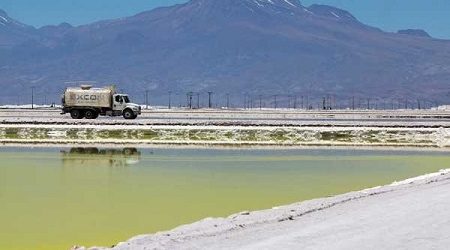
<instances>
[{"instance_id":1,"label":"clear blue sky above the mountain ridges","mask_svg":"<svg viewBox=\"0 0 450 250\"><path fill-rule=\"evenodd\" d=\"M220 1L220 0L214 0ZM0 8L26 24L40 27L69 22L73 25L134 15L158 6L186 0L0 0ZM450 39L449 0L303 0L350 11L362 22L386 31L421 28Z\"/></svg>"}]
</instances>

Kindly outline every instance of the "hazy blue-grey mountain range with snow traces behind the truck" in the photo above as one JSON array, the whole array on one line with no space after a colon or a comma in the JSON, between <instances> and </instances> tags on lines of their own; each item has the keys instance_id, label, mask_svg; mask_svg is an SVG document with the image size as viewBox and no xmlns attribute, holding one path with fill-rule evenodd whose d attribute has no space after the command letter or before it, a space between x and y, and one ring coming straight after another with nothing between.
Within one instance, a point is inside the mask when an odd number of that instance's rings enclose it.
<instances>
[{"instance_id":1,"label":"hazy blue-grey mountain range with snow traces behind the truck","mask_svg":"<svg viewBox=\"0 0 450 250\"><path fill-rule=\"evenodd\" d=\"M57 99L79 81L116 84L164 104L168 93L216 98L332 95L450 102L450 41L361 23L298 0L191 0L135 16L34 28L0 10L0 102ZM16 98L17 96L17 98ZM26 97L23 97L26 98Z\"/></svg>"}]
</instances>

